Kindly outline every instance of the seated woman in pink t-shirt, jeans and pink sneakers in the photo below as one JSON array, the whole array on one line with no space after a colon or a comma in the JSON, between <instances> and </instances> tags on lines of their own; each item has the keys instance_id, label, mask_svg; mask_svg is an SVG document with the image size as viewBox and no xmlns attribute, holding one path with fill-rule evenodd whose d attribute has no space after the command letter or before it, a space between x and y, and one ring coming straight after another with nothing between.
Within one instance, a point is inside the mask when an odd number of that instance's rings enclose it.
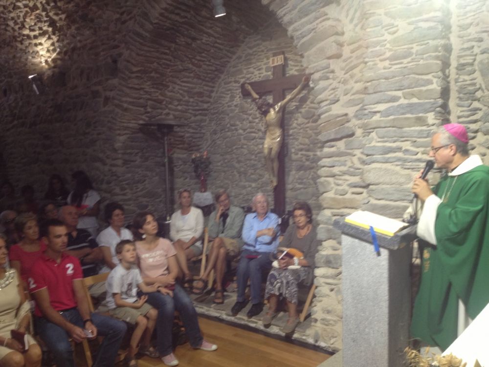
<instances>
[{"instance_id":1,"label":"seated woman in pink t-shirt, jeans and pink sneakers","mask_svg":"<svg viewBox=\"0 0 489 367\"><path fill-rule=\"evenodd\" d=\"M185 327L185 333L193 348L212 351L217 345L210 344L202 338L197 312L192 300L178 284L175 278L178 274L176 252L172 243L158 237L158 223L155 216L149 212L139 212L133 219L134 237L139 268L147 285L158 284L173 290L173 295L163 295L159 292L148 293L147 302L158 310L156 321L157 350L161 360L167 366L177 366L178 360L172 352L172 326L175 311Z\"/></svg>"}]
</instances>

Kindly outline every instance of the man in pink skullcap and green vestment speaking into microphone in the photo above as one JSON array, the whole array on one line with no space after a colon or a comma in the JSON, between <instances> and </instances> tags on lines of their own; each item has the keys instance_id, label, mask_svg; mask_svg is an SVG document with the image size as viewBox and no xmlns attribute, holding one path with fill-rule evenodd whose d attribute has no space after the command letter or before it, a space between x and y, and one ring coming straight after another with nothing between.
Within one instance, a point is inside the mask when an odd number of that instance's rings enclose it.
<instances>
[{"instance_id":1,"label":"man in pink skullcap and green vestment speaking into microphone","mask_svg":"<svg viewBox=\"0 0 489 367\"><path fill-rule=\"evenodd\" d=\"M463 315L489 303L489 167L467 145L463 125L442 126L429 155L446 175L433 189L421 178L412 187L424 203L418 235L432 246L422 252L411 336L442 349L467 326Z\"/></svg>"}]
</instances>

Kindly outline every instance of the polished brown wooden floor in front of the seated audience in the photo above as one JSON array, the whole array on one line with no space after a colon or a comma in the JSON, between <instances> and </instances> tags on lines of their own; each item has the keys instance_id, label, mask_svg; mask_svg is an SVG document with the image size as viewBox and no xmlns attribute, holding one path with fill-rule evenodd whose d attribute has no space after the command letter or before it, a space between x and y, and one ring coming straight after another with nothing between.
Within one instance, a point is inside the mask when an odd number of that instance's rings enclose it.
<instances>
[{"instance_id":1,"label":"polished brown wooden floor in front of the seated audience","mask_svg":"<svg viewBox=\"0 0 489 367\"><path fill-rule=\"evenodd\" d=\"M330 356L302 346L246 331L218 321L199 318L204 338L219 349L214 352L195 350L179 345L175 351L180 367L316 367ZM165 365L159 360L144 357L139 366Z\"/></svg>"}]
</instances>

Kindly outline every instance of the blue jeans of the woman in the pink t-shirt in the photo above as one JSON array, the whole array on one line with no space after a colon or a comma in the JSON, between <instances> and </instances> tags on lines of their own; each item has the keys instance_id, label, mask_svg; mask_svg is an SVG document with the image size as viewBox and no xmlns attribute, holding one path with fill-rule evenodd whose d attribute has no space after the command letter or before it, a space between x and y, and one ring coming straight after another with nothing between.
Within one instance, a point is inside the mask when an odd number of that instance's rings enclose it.
<instances>
[{"instance_id":1,"label":"blue jeans of the woman in the pink t-shirt","mask_svg":"<svg viewBox=\"0 0 489 367\"><path fill-rule=\"evenodd\" d=\"M158 310L156 320L157 350L164 357L172 353L172 328L175 311L180 313L180 319L185 327L185 334L192 347L198 348L202 344L197 311L192 300L178 284L175 284L173 297L162 295L159 292L148 293L148 303Z\"/></svg>"}]
</instances>

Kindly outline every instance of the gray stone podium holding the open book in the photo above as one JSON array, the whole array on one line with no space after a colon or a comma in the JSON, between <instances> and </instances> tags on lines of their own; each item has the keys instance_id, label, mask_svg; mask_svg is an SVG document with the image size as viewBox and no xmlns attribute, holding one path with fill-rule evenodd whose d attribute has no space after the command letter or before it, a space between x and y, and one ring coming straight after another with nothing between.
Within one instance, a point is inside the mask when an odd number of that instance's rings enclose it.
<instances>
[{"instance_id":1,"label":"gray stone podium holding the open book","mask_svg":"<svg viewBox=\"0 0 489 367\"><path fill-rule=\"evenodd\" d=\"M411 246L416 226L389 237L334 221L341 230L344 367L405 366L411 312Z\"/></svg>"}]
</instances>

